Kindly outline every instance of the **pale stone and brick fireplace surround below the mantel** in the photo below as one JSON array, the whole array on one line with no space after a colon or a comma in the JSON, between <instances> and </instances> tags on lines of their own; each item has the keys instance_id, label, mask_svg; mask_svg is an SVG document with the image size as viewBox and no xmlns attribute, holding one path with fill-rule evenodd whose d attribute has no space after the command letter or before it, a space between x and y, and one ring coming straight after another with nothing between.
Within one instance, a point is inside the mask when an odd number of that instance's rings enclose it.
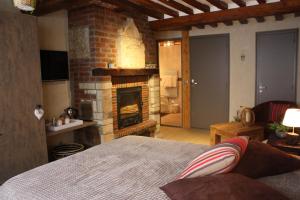
<instances>
[{"instance_id":1,"label":"pale stone and brick fireplace surround below the mantel","mask_svg":"<svg viewBox=\"0 0 300 200\"><path fill-rule=\"evenodd\" d=\"M107 142L114 138L129 135L132 130L128 128L118 129L117 117L117 88L142 87L143 102L143 123L138 124L140 128L153 126L149 120L156 121L156 131L159 131L159 76L128 76L111 77L101 76L98 83L80 83L79 88L84 94L94 97L93 100L82 99L82 101L92 101L93 117L98 122L101 134L101 142ZM137 128L138 126L135 126ZM125 130L125 131L124 131ZM127 131L129 131L127 133Z\"/></svg>"}]
</instances>

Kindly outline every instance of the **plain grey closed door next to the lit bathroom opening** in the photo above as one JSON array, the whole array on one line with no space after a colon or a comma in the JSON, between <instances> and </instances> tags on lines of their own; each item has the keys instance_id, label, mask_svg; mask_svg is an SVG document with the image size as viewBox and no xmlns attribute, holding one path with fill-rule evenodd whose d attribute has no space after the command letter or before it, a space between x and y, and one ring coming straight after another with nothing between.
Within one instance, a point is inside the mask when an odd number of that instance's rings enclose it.
<instances>
[{"instance_id":1,"label":"plain grey closed door next to the lit bathroom opening","mask_svg":"<svg viewBox=\"0 0 300 200\"><path fill-rule=\"evenodd\" d=\"M229 119L229 34L190 38L191 127Z\"/></svg>"}]
</instances>

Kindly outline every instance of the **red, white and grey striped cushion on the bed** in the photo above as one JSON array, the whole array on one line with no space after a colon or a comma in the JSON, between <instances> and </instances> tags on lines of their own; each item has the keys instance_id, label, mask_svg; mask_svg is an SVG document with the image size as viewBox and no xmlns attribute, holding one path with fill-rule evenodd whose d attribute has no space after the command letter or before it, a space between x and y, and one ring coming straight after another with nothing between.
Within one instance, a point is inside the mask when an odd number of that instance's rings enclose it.
<instances>
[{"instance_id":1,"label":"red, white and grey striped cushion on the bed","mask_svg":"<svg viewBox=\"0 0 300 200\"><path fill-rule=\"evenodd\" d=\"M177 179L230 172L246 151L248 137L226 140L208 149L183 170Z\"/></svg>"}]
</instances>

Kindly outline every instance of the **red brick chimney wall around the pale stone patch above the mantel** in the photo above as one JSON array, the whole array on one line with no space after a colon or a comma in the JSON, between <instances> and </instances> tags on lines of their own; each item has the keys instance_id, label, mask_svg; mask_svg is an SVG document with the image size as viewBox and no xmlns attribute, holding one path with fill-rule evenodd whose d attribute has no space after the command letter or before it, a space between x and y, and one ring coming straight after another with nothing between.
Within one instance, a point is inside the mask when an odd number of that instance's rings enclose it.
<instances>
[{"instance_id":1,"label":"red brick chimney wall around the pale stone patch above the mantel","mask_svg":"<svg viewBox=\"0 0 300 200\"><path fill-rule=\"evenodd\" d=\"M146 62L157 63L157 47L154 32L146 16L133 14L135 24L145 44ZM91 74L95 67L107 67L116 61L117 30L126 20L124 14L98 6L89 6L69 11L70 82L72 101L78 107L80 99L95 99L79 89L80 82L97 82Z\"/></svg>"}]
</instances>

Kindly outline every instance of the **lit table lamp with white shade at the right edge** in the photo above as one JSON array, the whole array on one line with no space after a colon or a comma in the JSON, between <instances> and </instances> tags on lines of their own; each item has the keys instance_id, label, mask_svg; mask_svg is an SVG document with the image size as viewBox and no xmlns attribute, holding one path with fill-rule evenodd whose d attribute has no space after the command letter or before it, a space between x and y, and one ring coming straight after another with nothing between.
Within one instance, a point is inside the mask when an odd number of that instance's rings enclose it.
<instances>
[{"instance_id":1,"label":"lit table lamp with white shade at the right edge","mask_svg":"<svg viewBox=\"0 0 300 200\"><path fill-rule=\"evenodd\" d=\"M289 132L287 134L287 143L297 144L299 141L299 135L295 133L295 127L300 127L300 109L287 109L282 124L288 127L293 127L293 132Z\"/></svg>"}]
</instances>

